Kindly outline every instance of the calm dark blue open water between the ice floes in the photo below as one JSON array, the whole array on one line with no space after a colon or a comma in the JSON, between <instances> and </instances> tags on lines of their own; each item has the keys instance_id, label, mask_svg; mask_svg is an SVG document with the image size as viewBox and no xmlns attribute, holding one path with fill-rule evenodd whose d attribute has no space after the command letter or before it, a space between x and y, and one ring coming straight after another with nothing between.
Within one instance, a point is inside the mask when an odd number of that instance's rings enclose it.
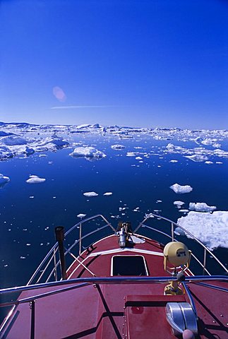
<instances>
[{"instance_id":1,"label":"calm dark blue open water between the ice floes","mask_svg":"<svg viewBox=\"0 0 228 339\"><path fill-rule=\"evenodd\" d=\"M27 283L54 244L54 227L63 225L68 230L79 221L79 213L88 217L101 213L114 227L119 219L111 218L111 215L119 215L121 220L131 220L134 228L145 213L153 210L176 221L183 215L173 204L176 200L184 201L184 208L188 208L189 202L206 202L209 206L217 206L217 210L227 210L227 159L222 159L222 165L205 165L182 155L164 155L162 149L169 141L155 141L150 136L134 136L121 141L115 137L76 136L75 141L82 141L82 138L84 144L95 145L107 157L97 161L76 159L69 156L73 148L65 148L56 153L49 152L47 157L35 154L0 163L0 173L11 179L0 189L1 287ZM126 148L112 150L111 145L116 143ZM172 143L196 147L193 143ZM223 149L227 149L226 145ZM150 153L151 150L157 155L148 158L139 155L143 162L126 156L126 152ZM178 162L169 162L172 159ZM28 184L25 181L30 174L46 178L46 182ZM190 184L193 191L175 194L169 188L175 183ZM88 191L99 195L83 196ZM103 196L105 192L113 194ZM120 207L126 207L126 210L119 211ZM133 212L135 208L139 211ZM148 225L152 223L148 222ZM186 237L179 239L190 244L190 248L194 247ZM214 253L227 264L227 249L217 249Z\"/></svg>"}]
</instances>

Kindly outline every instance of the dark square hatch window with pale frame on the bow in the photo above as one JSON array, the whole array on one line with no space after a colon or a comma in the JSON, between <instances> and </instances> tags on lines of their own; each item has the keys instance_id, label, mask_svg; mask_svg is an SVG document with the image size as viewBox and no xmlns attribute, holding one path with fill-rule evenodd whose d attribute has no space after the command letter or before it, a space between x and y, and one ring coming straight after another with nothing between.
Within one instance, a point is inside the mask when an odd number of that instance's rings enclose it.
<instances>
[{"instance_id":1,"label":"dark square hatch window with pale frame on the bow","mask_svg":"<svg viewBox=\"0 0 228 339\"><path fill-rule=\"evenodd\" d=\"M144 256L113 256L111 275L148 275Z\"/></svg>"}]
</instances>

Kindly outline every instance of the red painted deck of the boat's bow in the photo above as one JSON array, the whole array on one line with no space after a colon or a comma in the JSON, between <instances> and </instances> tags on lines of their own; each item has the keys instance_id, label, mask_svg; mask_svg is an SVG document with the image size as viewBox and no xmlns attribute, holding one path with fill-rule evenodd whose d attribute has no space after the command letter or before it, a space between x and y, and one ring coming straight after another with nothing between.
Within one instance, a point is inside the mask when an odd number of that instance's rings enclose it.
<instances>
[{"instance_id":1,"label":"red painted deck of the boat's bow","mask_svg":"<svg viewBox=\"0 0 228 339\"><path fill-rule=\"evenodd\" d=\"M104 251L110 250L116 252L105 254ZM104 254L100 254L101 251ZM147 251L155 253L148 254ZM167 275L163 268L161 246L150 239L146 239L144 244L136 244L134 249L122 250L116 236L107 237L95 243L92 251L85 251L79 260L97 277L108 277L111 274L111 258L116 254L143 255L150 276ZM91 276L88 270L78 266L78 262L74 262L68 270L70 278ZM190 289L198 312L198 338L228 338L227 293L193 283ZM49 290L59 290L59 287L23 292L20 299ZM164 284L143 283L90 285L44 297L35 302L35 339L176 338L165 316L165 305L170 301L188 302L188 298L186 295L164 295ZM29 305L20 304L13 321L0 338L30 338L30 319Z\"/></svg>"}]
</instances>

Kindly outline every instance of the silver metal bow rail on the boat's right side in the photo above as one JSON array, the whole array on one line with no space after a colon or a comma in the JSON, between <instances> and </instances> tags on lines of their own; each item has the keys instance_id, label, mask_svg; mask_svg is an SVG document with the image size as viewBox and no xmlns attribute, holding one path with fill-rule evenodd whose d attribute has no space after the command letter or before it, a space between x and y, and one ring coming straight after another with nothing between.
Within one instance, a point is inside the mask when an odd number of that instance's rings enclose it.
<instances>
[{"instance_id":1,"label":"silver metal bow rail on the boat's right side","mask_svg":"<svg viewBox=\"0 0 228 339\"><path fill-rule=\"evenodd\" d=\"M181 228L181 230L183 230L184 233L188 234L189 237L191 237L191 238L194 239L196 242L198 242L198 244L200 244L200 246L202 246L203 249L204 249L203 270L207 271L206 268L205 268L205 263L206 263L206 254L208 253L208 254L210 254L210 256L212 256L212 257L217 261L217 263L220 264L220 266L225 270L225 272L228 273L227 268L221 263L221 261L217 258L217 256L215 256L215 254L213 254L212 251L210 251L210 249L208 249L208 247L206 247L206 246L203 244L203 242L200 242L199 239L197 239L193 234L191 234L191 232L188 232L188 230L186 230L186 229L185 229L184 227L182 227L181 225L178 225L178 224L176 224L176 222L174 222L174 221L172 221L172 220L170 220L170 219L168 219L168 218L164 218L164 217L162 217L161 215L157 215L157 214L154 214L154 213L148 214L148 215L146 216L146 218L145 218L142 222L140 222L140 224L136 227L136 229L134 230L134 233L136 233L136 232L139 230L139 228L140 228L141 226L144 225L144 222L145 222L146 220L148 220L149 218L157 218L157 219L162 219L162 220L165 220L165 221L169 222L169 223L171 224L172 239L174 239L174 225L175 225L176 227ZM146 225L144 225L144 226L146 226ZM167 234L166 234L166 235L167 235ZM207 271L207 273L208 273L208 271ZM210 273L209 273L209 274L210 274Z\"/></svg>"}]
</instances>

